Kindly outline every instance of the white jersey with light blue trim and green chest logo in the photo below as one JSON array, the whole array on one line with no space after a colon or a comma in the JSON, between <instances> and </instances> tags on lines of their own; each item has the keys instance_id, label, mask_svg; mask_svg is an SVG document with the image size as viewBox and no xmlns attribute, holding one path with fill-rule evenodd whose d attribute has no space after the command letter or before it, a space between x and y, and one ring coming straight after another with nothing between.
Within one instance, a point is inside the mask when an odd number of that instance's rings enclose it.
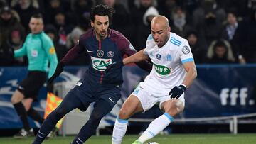
<instances>
[{"instance_id":1,"label":"white jersey with light blue trim and green chest logo","mask_svg":"<svg viewBox=\"0 0 256 144\"><path fill-rule=\"evenodd\" d=\"M168 94L170 90L183 82L186 70L183 63L193 61L188 40L175 33L170 33L167 43L159 48L152 35L146 40L144 54L153 62L150 74L145 83L159 94Z\"/></svg>"}]
</instances>

